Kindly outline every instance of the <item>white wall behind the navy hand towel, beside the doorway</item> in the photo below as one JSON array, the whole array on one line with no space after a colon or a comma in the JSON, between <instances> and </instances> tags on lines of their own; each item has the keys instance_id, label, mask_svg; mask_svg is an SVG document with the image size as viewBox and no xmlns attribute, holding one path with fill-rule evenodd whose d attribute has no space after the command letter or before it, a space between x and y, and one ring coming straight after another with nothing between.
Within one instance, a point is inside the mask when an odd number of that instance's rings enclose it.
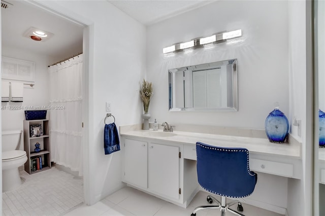
<instances>
[{"instance_id":1,"label":"white wall behind the navy hand towel, beside the doorway","mask_svg":"<svg viewBox=\"0 0 325 216\"><path fill-rule=\"evenodd\" d=\"M146 28L106 1L41 1L68 16L87 20L94 30L89 71L89 185L94 204L123 186L121 151L104 154L105 103L117 126L139 124L143 113L139 83L146 73ZM122 146L123 148L123 146ZM86 186L86 185L85 185Z\"/></svg>"}]
</instances>

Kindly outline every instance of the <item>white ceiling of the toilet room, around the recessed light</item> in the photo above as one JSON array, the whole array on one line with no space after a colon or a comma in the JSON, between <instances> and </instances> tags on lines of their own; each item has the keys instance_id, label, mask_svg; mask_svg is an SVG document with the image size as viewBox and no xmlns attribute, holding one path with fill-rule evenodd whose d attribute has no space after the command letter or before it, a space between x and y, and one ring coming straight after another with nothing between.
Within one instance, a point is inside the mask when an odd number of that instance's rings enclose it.
<instances>
[{"instance_id":1,"label":"white ceiling of the toilet room, around the recessed light","mask_svg":"<svg viewBox=\"0 0 325 216\"><path fill-rule=\"evenodd\" d=\"M82 52L83 26L24 1L5 1L13 6L1 9L2 46L62 59ZM29 27L40 28L53 35L48 41L33 41L24 37Z\"/></svg>"}]
</instances>

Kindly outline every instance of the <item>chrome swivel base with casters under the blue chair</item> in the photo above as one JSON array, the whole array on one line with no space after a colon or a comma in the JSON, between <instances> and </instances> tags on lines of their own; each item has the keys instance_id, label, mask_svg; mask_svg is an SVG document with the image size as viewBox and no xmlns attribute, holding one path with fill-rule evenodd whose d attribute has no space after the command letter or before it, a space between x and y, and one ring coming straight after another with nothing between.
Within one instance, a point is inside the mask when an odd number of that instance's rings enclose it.
<instances>
[{"instance_id":1,"label":"chrome swivel base with casters under the blue chair","mask_svg":"<svg viewBox=\"0 0 325 216\"><path fill-rule=\"evenodd\" d=\"M227 204L226 203L226 197L224 197L224 196L221 196L221 203L216 198L214 198L212 196L208 196L207 201L210 204L213 203L213 201L215 201L217 203L217 205L201 205L201 206L198 206L198 207L194 208L193 212L191 213L191 216L196 216L197 215L196 212L199 211L199 210L202 210L202 209L220 209L220 211L221 211L220 215L221 216L225 216L226 211L230 211L233 214L238 215L238 216L245 216L244 214L229 208L229 206L232 206L232 205L238 203L237 209L239 211L243 211L244 210L243 206L241 205L241 203L238 200L234 200L231 203Z\"/></svg>"}]
</instances>

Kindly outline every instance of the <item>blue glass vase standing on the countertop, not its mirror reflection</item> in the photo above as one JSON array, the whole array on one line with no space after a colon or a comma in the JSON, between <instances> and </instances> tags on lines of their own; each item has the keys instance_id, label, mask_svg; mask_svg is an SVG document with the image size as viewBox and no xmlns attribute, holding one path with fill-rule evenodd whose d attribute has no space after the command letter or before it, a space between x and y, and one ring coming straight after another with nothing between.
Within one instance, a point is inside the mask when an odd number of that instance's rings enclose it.
<instances>
[{"instance_id":1,"label":"blue glass vase standing on the countertop, not its mirror reflection","mask_svg":"<svg viewBox=\"0 0 325 216\"><path fill-rule=\"evenodd\" d=\"M283 143L289 132L289 122L284 113L274 109L265 120L265 131L270 142Z\"/></svg>"}]
</instances>

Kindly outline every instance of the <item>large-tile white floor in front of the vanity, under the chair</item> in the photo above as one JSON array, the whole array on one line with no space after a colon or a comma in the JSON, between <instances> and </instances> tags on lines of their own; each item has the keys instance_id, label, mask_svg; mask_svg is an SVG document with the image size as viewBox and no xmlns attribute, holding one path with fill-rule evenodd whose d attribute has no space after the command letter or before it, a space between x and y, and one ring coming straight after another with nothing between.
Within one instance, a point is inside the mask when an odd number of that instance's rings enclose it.
<instances>
[{"instance_id":1,"label":"large-tile white floor in front of the vanity, under the chair","mask_svg":"<svg viewBox=\"0 0 325 216\"><path fill-rule=\"evenodd\" d=\"M65 216L190 216L193 209L206 205L207 193L200 191L187 208L182 208L164 200L158 199L136 189L124 187L100 202L87 206L81 204L64 214ZM243 204L243 214L249 216L281 216L281 214ZM237 207L235 206L235 209ZM220 215L219 210L201 210L197 216ZM234 216L226 212L228 216Z\"/></svg>"}]
</instances>

